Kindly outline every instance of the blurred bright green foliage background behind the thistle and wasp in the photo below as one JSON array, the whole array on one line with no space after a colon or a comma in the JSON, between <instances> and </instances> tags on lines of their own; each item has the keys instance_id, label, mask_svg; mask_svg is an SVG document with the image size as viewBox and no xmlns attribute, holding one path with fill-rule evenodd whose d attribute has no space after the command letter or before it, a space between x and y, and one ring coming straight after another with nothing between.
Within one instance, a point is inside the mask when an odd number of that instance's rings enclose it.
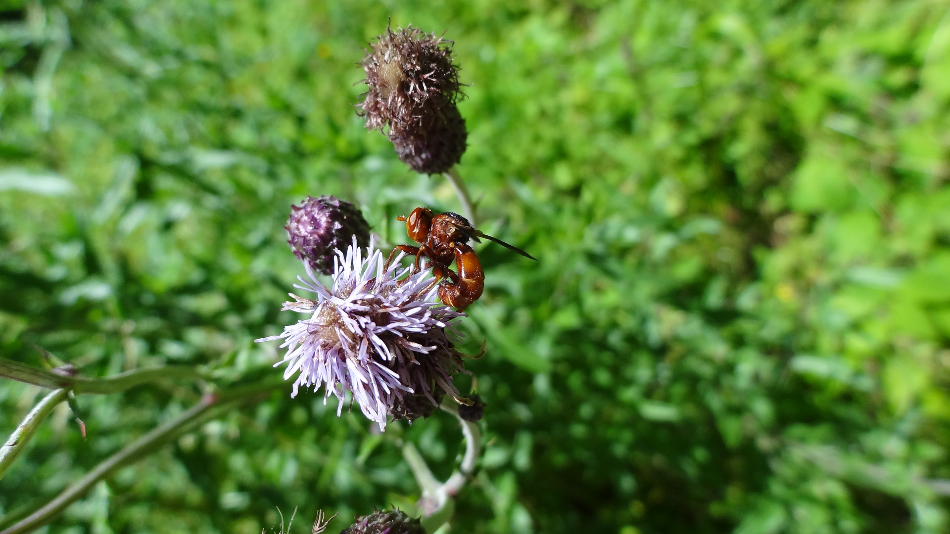
<instances>
[{"instance_id":1,"label":"blurred bright green foliage background behind the thistle and wasp","mask_svg":"<svg viewBox=\"0 0 950 534\"><path fill-rule=\"evenodd\" d=\"M950 528L950 4L9 0L0 12L0 354L90 376L279 373L291 202L374 232L458 210L353 105L368 40L455 41L481 226L466 319L488 403L454 532ZM469 390L470 380L459 379ZM322 391L238 410L126 467L49 532L328 530L437 476L447 414L383 435ZM0 482L10 524L194 403L84 395ZM0 381L0 430L42 392ZM302 518L302 519L301 519Z\"/></svg>"}]
</instances>

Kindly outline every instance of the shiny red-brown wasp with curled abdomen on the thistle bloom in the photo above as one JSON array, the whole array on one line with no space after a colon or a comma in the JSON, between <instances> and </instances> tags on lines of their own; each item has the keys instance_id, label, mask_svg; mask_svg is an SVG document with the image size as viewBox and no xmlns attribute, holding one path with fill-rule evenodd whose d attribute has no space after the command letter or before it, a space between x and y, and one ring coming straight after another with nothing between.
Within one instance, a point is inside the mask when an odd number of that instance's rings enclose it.
<instances>
[{"instance_id":1,"label":"shiny red-brown wasp with curled abdomen on the thistle bloom","mask_svg":"<svg viewBox=\"0 0 950 534\"><path fill-rule=\"evenodd\" d=\"M481 242L480 238L495 241L508 250L537 261L537 258L522 249L476 230L468 219L457 213L447 211L434 215L432 210L420 207L412 210L409 217L399 216L396 219L406 221L409 238L419 243L419 246L396 245L386 262L387 266L397 251L415 256L416 269L419 268L419 258L428 257L432 276L436 279L446 278L439 284L439 298L444 304L460 312L478 300L479 296L482 296L482 291L485 290L482 264L475 256L475 251L468 245L468 239L478 242ZM458 274L448 268L453 260L459 271Z\"/></svg>"}]
</instances>

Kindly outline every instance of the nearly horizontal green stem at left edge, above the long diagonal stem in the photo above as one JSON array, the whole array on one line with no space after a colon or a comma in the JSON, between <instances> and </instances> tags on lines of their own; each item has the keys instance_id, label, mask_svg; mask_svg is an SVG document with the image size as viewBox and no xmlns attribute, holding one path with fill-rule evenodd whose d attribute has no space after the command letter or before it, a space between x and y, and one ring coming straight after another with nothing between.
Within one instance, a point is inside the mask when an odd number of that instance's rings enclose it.
<instances>
[{"instance_id":1,"label":"nearly horizontal green stem at left edge, above the long diagonal stem","mask_svg":"<svg viewBox=\"0 0 950 534\"><path fill-rule=\"evenodd\" d=\"M87 376L71 376L66 372L49 372L17 361L0 358L0 376L44 388L65 388L77 393L108 394L125 391L162 378L199 378L200 373L192 367L161 366L121 372L105 378L89 378Z\"/></svg>"}]
</instances>

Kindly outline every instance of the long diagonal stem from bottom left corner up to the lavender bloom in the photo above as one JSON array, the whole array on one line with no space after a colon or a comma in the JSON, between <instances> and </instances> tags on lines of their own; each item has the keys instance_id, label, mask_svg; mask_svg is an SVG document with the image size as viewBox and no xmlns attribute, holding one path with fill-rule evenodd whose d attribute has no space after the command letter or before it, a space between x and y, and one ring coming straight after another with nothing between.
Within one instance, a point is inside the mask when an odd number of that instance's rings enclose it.
<instances>
[{"instance_id":1,"label":"long diagonal stem from bottom left corner up to the lavender bloom","mask_svg":"<svg viewBox=\"0 0 950 534\"><path fill-rule=\"evenodd\" d=\"M66 509L66 506L80 499L90 487L115 472L116 469L141 459L188 429L212 418L218 413L237 408L237 406L241 404L259 399L260 393L271 391L282 383L282 380L280 382L265 380L258 384L222 391L218 395L205 396L198 404L181 412L178 417L152 429L141 438L123 447L119 452L106 458L98 466L86 473L82 479L72 486L66 487L62 493L57 495L52 501L47 503L47 505L36 510L26 519L0 532L0 534L23 534L48 524Z\"/></svg>"}]
</instances>

